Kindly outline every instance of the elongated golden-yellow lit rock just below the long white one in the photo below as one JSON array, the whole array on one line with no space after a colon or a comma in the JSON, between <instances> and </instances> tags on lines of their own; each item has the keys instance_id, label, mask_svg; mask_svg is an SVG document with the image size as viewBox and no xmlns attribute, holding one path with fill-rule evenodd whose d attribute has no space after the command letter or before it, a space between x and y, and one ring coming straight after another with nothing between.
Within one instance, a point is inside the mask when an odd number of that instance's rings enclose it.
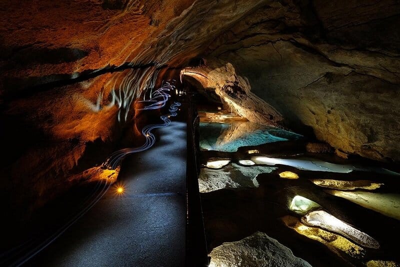
<instances>
[{"instance_id":1,"label":"elongated golden-yellow lit rock just below the long white one","mask_svg":"<svg viewBox=\"0 0 400 267\"><path fill-rule=\"evenodd\" d=\"M287 227L295 230L301 235L326 245L335 253L343 251L355 258L360 258L365 254L365 250L362 247L354 244L343 236L322 230L320 228L308 227L302 224L296 217L284 216L282 221Z\"/></svg>"}]
</instances>

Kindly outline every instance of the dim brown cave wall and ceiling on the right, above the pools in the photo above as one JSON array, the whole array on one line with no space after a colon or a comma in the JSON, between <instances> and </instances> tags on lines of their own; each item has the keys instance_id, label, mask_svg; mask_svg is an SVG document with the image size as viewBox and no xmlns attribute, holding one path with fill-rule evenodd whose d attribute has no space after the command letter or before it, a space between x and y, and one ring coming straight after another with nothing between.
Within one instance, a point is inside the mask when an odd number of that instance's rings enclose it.
<instances>
[{"instance_id":1,"label":"dim brown cave wall and ceiling on the right, above the pools","mask_svg":"<svg viewBox=\"0 0 400 267\"><path fill-rule=\"evenodd\" d=\"M195 71L230 63L285 125L398 161L399 25L398 1L274 1L218 36Z\"/></svg>"}]
</instances>

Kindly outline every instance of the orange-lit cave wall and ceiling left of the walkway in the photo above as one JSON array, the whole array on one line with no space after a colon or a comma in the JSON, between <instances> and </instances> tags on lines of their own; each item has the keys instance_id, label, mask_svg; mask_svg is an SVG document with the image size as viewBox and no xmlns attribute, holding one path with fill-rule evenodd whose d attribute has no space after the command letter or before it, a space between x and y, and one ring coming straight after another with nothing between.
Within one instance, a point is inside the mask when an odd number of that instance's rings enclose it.
<instances>
[{"instance_id":1,"label":"orange-lit cave wall and ceiling left of the walkway","mask_svg":"<svg viewBox=\"0 0 400 267\"><path fill-rule=\"evenodd\" d=\"M123 133L140 142L135 100L262 4L1 1L0 124L7 159L0 187L9 212L28 214L71 181L104 176L93 168ZM115 100L119 92L130 95L126 105Z\"/></svg>"}]
</instances>

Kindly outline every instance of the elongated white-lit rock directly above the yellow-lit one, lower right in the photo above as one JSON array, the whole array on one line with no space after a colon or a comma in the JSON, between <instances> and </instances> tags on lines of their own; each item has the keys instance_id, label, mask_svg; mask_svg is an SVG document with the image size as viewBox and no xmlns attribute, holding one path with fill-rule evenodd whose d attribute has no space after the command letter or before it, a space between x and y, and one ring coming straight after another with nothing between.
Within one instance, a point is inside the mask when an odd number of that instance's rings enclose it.
<instances>
[{"instance_id":1,"label":"elongated white-lit rock directly above the yellow-lit one, lower right","mask_svg":"<svg viewBox=\"0 0 400 267\"><path fill-rule=\"evenodd\" d=\"M301 217L301 222L308 226L317 226L328 231L337 232L364 247L379 248L379 243L374 238L324 210L310 211Z\"/></svg>"}]
</instances>

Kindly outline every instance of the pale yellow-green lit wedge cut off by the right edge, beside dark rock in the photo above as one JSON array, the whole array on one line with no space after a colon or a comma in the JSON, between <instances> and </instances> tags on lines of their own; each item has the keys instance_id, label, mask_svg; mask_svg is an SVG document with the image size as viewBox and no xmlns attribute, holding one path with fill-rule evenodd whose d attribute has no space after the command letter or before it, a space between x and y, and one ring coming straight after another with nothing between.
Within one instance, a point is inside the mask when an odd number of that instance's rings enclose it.
<instances>
[{"instance_id":1,"label":"pale yellow-green lit wedge cut off by the right edge, beside dark rock","mask_svg":"<svg viewBox=\"0 0 400 267\"><path fill-rule=\"evenodd\" d=\"M400 194L339 190L326 192L400 220Z\"/></svg>"}]
</instances>

